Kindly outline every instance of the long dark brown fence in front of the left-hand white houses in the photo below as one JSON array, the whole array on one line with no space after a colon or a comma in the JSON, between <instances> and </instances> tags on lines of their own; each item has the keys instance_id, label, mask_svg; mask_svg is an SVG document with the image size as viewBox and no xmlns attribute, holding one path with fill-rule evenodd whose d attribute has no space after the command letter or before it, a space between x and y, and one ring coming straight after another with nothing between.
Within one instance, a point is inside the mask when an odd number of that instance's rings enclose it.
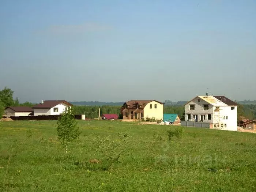
<instances>
[{"instance_id":1,"label":"long dark brown fence in front of the left-hand white houses","mask_svg":"<svg viewBox=\"0 0 256 192\"><path fill-rule=\"evenodd\" d=\"M60 115L38 115L38 116L8 116L12 120L57 120ZM83 119L84 115L75 114L75 119Z\"/></svg>"}]
</instances>

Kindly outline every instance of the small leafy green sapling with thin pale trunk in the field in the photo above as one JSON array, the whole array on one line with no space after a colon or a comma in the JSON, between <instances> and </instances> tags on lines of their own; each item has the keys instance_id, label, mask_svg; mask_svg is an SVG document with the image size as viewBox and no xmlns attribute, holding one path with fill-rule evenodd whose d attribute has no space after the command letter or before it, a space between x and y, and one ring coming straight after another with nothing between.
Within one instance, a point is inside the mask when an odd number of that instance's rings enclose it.
<instances>
[{"instance_id":1,"label":"small leafy green sapling with thin pale trunk in the field","mask_svg":"<svg viewBox=\"0 0 256 192\"><path fill-rule=\"evenodd\" d=\"M68 110L61 114L57 121L56 128L57 136L60 139L61 144L65 147L67 154L68 143L75 141L81 133L72 108L68 107Z\"/></svg>"}]
</instances>

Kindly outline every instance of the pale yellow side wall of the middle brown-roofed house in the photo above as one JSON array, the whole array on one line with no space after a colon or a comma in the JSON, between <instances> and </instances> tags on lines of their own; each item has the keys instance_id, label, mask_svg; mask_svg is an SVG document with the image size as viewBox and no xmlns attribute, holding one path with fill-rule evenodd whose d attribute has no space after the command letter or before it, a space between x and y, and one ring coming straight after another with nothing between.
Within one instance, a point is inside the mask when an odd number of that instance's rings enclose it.
<instances>
[{"instance_id":1,"label":"pale yellow side wall of the middle brown-roofed house","mask_svg":"<svg viewBox=\"0 0 256 192\"><path fill-rule=\"evenodd\" d=\"M152 109L150 109L150 104L152 104ZM155 104L157 104L157 109L155 109ZM155 101L147 103L147 105L144 107L144 118L146 117L155 117L155 119L163 119L163 104L160 104Z\"/></svg>"}]
</instances>

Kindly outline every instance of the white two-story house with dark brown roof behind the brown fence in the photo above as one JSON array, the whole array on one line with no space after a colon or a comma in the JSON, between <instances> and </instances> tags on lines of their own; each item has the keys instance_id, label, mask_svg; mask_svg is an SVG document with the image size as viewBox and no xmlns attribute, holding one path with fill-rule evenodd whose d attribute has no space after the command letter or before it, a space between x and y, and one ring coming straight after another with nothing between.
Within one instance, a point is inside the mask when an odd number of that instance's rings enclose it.
<instances>
[{"instance_id":1,"label":"white two-story house with dark brown roof behind the brown fence","mask_svg":"<svg viewBox=\"0 0 256 192\"><path fill-rule=\"evenodd\" d=\"M32 107L34 116L38 115L59 115L71 107L71 103L65 100L48 100L42 101L38 105Z\"/></svg>"}]
</instances>

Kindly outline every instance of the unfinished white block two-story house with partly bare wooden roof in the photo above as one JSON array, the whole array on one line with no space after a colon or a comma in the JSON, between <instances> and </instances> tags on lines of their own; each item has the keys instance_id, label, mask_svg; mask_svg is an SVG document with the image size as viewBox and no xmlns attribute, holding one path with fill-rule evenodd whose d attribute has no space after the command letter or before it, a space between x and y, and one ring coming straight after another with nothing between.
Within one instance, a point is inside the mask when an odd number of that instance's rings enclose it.
<instances>
[{"instance_id":1,"label":"unfinished white block two-story house with partly bare wooden roof","mask_svg":"<svg viewBox=\"0 0 256 192\"><path fill-rule=\"evenodd\" d=\"M185 104L185 120L210 123L210 128L237 131L237 103L225 96L197 96Z\"/></svg>"}]
</instances>

